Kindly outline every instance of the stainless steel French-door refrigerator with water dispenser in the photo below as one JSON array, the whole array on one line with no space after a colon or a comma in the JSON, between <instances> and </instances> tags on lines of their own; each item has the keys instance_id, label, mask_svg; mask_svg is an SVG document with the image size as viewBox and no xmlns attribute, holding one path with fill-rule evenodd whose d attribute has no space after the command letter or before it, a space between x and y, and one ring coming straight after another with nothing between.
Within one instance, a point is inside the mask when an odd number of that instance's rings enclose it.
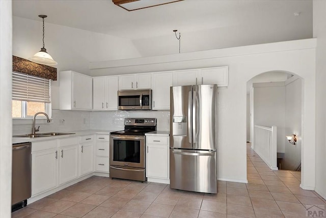
<instances>
[{"instance_id":1,"label":"stainless steel French-door refrigerator with water dispenser","mask_svg":"<svg viewBox=\"0 0 326 218\"><path fill-rule=\"evenodd\" d=\"M170 187L217 192L217 85L170 87Z\"/></svg>"}]
</instances>

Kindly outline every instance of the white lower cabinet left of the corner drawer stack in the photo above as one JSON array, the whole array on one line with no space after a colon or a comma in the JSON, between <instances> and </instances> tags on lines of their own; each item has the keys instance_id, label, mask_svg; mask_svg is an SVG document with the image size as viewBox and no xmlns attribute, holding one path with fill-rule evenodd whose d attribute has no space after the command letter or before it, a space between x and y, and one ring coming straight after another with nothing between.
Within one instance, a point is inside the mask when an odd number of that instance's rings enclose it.
<instances>
[{"instance_id":1,"label":"white lower cabinet left of the corner drawer stack","mask_svg":"<svg viewBox=\"0 0 326 218\"><path fill-rule=\"evenodd\" d=\"M80 137L79 144L79 176L94 171L94 135Z\"/></svg>"}]
</instances>

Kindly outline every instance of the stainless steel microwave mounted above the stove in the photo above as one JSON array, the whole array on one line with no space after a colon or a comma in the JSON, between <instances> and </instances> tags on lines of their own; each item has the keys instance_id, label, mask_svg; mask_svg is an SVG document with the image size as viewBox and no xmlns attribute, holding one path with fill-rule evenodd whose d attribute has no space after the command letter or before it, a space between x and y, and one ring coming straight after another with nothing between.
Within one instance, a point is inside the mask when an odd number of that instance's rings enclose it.
<instances>
[{"instance_id":1,"label":"stainless steel microwave mounted above the stove","mask_svg":"<svg viewBox=\"0 0 326 218\"><path fill-rule=\"evenodd\" d=\"M152 90L118 91L118 110L152 110Z\"/></svg>"}]
</instances>

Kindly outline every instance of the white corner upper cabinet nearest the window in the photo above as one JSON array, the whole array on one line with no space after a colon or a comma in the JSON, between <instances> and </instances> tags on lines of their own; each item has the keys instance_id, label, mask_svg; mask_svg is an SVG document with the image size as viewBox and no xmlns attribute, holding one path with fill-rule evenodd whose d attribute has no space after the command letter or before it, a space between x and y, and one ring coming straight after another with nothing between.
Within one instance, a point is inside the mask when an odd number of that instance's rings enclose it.
<instances>
[{"instance_id":1,"label":"white corner upper cabinet nearest the window","mask_svg":"<svg viewBox=\"0 0 326 218\"><path fill-rule=\"evenodd\" d=\"M92 77L74 71L60 72L60 110L92 109Z\"/></svg>"}]
</instances>

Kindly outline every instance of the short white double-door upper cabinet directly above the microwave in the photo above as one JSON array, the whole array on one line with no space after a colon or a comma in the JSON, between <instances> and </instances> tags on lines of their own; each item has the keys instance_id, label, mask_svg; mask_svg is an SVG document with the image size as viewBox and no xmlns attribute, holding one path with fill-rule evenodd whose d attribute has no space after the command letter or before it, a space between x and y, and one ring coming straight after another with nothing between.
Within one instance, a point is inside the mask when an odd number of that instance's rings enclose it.
<instances>
[{"instance_id":1,"label":"short white double-door upper cabinet directly above the microwave","mask_svg":"<svg viewBox=\"0 0 326 218\"><path fill-rule=\"evenodd\" d=\"M151 73L119 76L119 90L151 89Z\"/></svg>"}]
</instances>

